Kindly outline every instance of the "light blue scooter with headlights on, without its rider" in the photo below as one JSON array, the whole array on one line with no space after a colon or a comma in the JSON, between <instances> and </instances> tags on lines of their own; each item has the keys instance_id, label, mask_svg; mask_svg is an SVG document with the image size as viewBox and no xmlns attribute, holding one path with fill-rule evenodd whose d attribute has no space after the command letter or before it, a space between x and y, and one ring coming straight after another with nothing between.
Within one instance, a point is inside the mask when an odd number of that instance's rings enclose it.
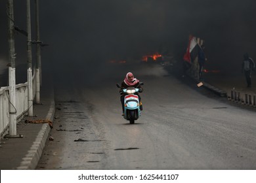
<instances>
[{"instance_id":1,"label":"light blue scooter with headlights on, without its rider","mask_svg":"<svg viewBox=\"0 0 256 183\"><path fill-rule=\"evenodd\" d=\"M142 86L143 82L140 82L139 86ZM116 84L117 88L121 88L119 84ZM139 96L135 93L139 92L139 88L129 87L129 88L121 88L123 93L126 93L124 100L124 116L125 120L128 120L130 124L134 124L135 120L140 118L140 101Z\"/></svg>"}]
</instances>

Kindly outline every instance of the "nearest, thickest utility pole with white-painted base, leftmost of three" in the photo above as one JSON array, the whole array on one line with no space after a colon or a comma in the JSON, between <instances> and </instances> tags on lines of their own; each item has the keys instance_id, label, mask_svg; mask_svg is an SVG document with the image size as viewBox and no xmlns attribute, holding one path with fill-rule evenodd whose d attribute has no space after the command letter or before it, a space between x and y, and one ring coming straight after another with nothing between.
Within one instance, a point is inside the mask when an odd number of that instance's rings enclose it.
<instances>
[{"instance_id":1,"label":"nearest, thickest utility pole with white-painted base, leftmost of three","mask_svg":"<svg viewBox=\"0 0 256 183\"><path fill-rule=\"evenodd\" d=\"M15 80L15 47L14 47L14 11L13 0L7 1L8 42L9 42L9 135L17 135L16 129L16 80Z\"/></svg>"}]
</instances>

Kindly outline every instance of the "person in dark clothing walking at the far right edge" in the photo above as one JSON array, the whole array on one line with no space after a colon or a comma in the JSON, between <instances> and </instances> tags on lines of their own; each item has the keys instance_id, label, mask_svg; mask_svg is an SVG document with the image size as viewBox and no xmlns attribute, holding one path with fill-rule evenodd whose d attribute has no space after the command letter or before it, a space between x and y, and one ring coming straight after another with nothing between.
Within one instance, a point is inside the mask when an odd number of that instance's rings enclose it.
<instances>
[{"instance_id":1,"label":"person in dark clothing walking at the far right edge","mask_svg":"<svg viewBox=\"0 0 256 183\"><path fill-rule=\"evenodd\" d=\"M255 63L252 58L249 58L247 53L244 54L244 61L242 62L242 73L245 75L247 87L251 87L251 71L254 71Z\"/></svg>"}]
</instances>

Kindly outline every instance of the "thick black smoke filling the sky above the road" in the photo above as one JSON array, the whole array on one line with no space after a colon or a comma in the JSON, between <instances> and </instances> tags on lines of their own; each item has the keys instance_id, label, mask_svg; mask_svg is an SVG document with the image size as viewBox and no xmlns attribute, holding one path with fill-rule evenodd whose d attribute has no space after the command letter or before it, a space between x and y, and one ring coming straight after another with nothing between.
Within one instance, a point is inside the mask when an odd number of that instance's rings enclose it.
<instances>
[{"instance_id":1,"label":"thick black smoke filling the sky above the road","mask_svg":"<svg viewBox=\"0 0 256 183\"><path fill-rule=\"evenodd\" d=\"M8 62L6 3L0 3L1 62ZM182 61L191 33L205 40L207 67L240 72L244 52L256 59L255 5L255 0L39 0L41 41L49 44L42 48L43 69L94 77L111 69L110 60L138 61L162 50ZM34 1L31 6L35 40ZM26 30L25 0L14 0L14 21ZM16 64L26 64L26 37L18 33L15 41Z\"/></svg>"}]
</instances>

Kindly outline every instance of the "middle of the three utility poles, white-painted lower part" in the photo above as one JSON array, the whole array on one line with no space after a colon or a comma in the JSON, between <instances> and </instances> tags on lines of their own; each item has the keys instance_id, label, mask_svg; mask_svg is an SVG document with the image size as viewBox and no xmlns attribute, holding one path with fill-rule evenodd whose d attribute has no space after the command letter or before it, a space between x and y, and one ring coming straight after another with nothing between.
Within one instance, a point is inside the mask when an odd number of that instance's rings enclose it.
<instances>
[{"instance_id":1,"label":"middle of the three utility poles, white-painted lower part","mask_svg":"<svg viewBox=\"0 0 256 183\"><path fill-rule=\"evenodd\" d=\"M28 116L33 116L33 88L32 88L32 40L31 40L31 18L30 0L27 0L27 51L28 51Z\"/></svg>"}]
</instances>

